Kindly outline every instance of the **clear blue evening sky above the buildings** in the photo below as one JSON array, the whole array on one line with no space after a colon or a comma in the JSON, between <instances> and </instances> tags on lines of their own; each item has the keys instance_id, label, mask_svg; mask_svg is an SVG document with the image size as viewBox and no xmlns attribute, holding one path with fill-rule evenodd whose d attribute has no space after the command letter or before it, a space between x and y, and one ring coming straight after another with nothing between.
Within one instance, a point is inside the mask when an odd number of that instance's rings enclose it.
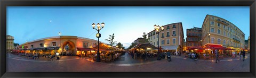
<instances>
[{"instance_id":1,"label":"clear blue evening sky above the buildings","mask_svg":"<svg viewBox=\"0 0 256 78\"><path fill-rule=\"evenodd\" d=\"M59 32L97 40L91 24L104 22L100 41L109 43L105 39L115 33L115 40L128 48L143 32L154 30L154 24L182 22L186 38L186 29L201 28L206 14L234 23L249 37L249 6L8 6L7 34L18 44Z\"/></svg>"}]
</instances>

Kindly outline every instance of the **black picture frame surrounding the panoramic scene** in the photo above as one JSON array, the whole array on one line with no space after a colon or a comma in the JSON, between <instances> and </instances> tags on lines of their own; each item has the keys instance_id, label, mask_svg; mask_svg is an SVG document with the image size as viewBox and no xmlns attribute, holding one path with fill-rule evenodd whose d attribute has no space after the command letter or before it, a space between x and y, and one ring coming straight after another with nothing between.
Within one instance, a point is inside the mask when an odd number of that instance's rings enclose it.
<instances>
[{"instance_id":1,"label":"black picture frame surrounding the panoramic scene","mask_svg":"<svg viewBox=\"0 0 256 78\"><path fill-rule=\"evenodd\" d=\"M1 77L255 77L255 0L2 0L0 28ZM6 72L6 7L7 6L250 6L250 72Z\"/></svg>"}]
</instances>

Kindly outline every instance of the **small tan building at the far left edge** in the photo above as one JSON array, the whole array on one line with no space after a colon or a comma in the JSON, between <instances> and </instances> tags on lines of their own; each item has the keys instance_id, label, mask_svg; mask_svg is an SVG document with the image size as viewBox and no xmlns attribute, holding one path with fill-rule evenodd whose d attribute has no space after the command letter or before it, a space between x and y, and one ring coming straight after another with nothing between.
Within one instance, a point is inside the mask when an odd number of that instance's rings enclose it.
<instances>
[{"instance_id":1,"label":"small tan building at the far left edge","mask_svg":"<svg viewBox=\"0 0 256 78\"><path fill-rule=\"evenodd\" d=\"M7 35L6 36L6 51L12 51L14 49L14 37Z\"/></svg>"}]
</instances>

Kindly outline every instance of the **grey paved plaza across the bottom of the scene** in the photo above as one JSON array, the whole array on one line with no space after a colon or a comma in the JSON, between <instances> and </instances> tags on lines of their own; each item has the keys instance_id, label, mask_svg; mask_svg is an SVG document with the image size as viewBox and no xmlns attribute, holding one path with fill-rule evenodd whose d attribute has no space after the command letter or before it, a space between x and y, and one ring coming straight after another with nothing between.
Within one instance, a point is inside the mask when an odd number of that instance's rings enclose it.
<instances>
[{"instance_id":1,"label":"grey paved plaza across the bottom of the scene","mask_svg":"<svg viewBox=\"0 0 256 78\"><path fill-rule=\"evenodd\" d=\"M6 54L6 72L250 72L250 55L246 59L223 58L215 63L210 60L193 60L172 56L172 61L155 58L132 59L129 54L111 63L97 63L77 56L62 56L59 60L28 59Z\"/></svg>"}]
</instances>

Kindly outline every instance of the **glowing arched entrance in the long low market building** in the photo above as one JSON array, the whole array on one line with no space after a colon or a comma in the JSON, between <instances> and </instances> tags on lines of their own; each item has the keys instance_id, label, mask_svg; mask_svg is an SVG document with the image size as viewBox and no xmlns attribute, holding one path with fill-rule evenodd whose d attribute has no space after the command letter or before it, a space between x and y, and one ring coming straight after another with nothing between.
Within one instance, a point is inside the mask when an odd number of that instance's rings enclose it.
<instances>
[{"instance_id":1,"label":"glowing arched entrance in the long low market building","mask_svg":"<svg viewBox=\"0 0 256 78\"><path fill-rule=\"evenodd\" d=\"M62 45L63 55L74 56L75 55L75 44L72 41L66 41Z\"/></svg>"}]
</instances>

